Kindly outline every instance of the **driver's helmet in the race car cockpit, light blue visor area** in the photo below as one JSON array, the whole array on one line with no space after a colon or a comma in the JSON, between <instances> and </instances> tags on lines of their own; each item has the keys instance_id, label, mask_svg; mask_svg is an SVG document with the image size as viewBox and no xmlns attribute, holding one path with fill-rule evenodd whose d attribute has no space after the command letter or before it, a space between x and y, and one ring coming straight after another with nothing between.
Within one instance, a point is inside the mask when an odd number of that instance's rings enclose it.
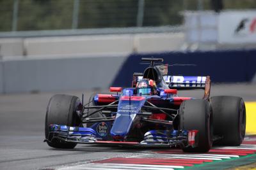
<instances>
[{"instance_id":1,"label":"driver's helmet in the race car cockpit, light blue visor area","mask_svg":"<svg viewBox=\"0 0 256 170\"><path fill-rule=\"evenodd\" d=\"M154 80L143 78L136 85L137 94L154 95L156 91L156 82Z\"/></svg>"}]
</instances>

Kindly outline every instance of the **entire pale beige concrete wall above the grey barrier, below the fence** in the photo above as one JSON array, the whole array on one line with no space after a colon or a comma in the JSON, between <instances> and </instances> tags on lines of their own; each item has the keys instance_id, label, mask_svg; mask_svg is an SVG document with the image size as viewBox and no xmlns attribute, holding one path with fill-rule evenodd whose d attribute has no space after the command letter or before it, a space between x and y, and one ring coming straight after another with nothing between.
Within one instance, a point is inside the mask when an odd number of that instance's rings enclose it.
<instances>
[{"instance_id":1,"label":"entire pale beige concrete wall above the grey barrier, below the fence","mask_svg":"<svg viewBox=\"0 0 256 170\"><path fill-rule=\"evenodd\" d=\"M0 53L3 56L24 54L31 57L113 55L113 53L129 55L132 52L177 51L183 44L184 34L182 32L23 39L0 38Z\"/></svg>"}]
</instances>

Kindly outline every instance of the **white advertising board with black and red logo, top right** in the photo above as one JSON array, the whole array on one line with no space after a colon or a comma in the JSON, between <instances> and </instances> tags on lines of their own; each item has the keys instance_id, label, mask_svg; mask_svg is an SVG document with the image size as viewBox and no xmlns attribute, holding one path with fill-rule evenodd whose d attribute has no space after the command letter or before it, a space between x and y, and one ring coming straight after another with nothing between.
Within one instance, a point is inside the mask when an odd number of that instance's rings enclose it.
<instances>
[{"instance_id":1,"label":"white advertising board with black and red logo, top right","mask_svg":"<svg viewBox=\"0 0 256 170\"><path fill-rule=\"evenodd\" d=\"M218 24L219 43L256 43L256 10L223 11Z\"/></svg>"}]
</instances>

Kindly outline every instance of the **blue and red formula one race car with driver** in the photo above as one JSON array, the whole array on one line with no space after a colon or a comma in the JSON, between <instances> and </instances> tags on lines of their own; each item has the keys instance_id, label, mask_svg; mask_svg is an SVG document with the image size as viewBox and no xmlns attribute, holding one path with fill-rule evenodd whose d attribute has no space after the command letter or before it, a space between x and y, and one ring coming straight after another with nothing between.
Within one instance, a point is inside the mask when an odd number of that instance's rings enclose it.
<instances>
[{"instance_id":1,"label":"blue and red formula one race car with driver","mask_svg":"<svg viewBox=\"0 0 256 170\"><path fill-rule=\"evenodd\" d=\"M76 96L52 96L45 117L45 141L54 148L77 143L171 147L208 152L212 143L238 146L245 134L241 97L210 96L209 76L168 76L163 59L134 73L132 87L110 87L83 104ZM179 97L177 90L203 89L203 99Z\"/></svg>"}]
</instances>

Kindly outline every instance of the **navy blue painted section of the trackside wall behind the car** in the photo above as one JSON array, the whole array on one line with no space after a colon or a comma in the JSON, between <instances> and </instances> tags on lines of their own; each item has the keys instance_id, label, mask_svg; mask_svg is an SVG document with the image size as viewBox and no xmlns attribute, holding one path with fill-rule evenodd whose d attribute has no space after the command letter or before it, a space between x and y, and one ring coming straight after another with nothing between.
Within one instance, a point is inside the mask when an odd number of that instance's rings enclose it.
<instances>
[{"instance_id":1,"label":"navy blue painted section of the trackside wall behind the car","mask_svg":"<svg viewBox=\"0 0 256 170\"><path fill-rule=\"evenodd\" d=\"M213 83L252 82L256 76L255 56L256 50L133 54L118 71L113 86L127 87L134 72L143 73L147 65L140 64L141 57L163 58L166 64L196 65L170 66L169 75L209 75Z\"/></svg>"}]
</instances>

